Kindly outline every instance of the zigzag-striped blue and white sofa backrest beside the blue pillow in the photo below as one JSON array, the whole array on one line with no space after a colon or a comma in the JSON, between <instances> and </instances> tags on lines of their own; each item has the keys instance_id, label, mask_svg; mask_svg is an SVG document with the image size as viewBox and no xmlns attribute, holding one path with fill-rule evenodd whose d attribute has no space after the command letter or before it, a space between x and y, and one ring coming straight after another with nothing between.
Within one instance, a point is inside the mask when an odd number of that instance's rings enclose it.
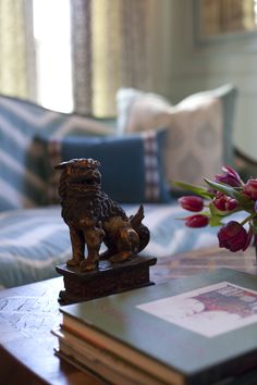
<instances>
[{"instance_id":1,"label":"zigzag-striped blue and white sofa backrest beside the blue pillow","mask_svg":"<svg viewBox=\"0 0 257 385\"><path fill-rule=\"evenodd\" d=\"M0 211L38 206L45 181L38 173L34 136L107 135L114 128L95 119L59 113L32 102L0 96Z\"/></svg>"}]
</instances>

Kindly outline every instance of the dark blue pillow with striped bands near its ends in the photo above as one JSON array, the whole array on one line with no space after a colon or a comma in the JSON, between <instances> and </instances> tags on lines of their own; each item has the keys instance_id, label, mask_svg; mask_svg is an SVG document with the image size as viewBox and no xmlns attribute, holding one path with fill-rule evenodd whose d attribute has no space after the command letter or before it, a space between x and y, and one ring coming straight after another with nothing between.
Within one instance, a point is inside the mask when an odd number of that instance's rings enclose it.
<instances>
[{"instance_id":1,"label":"dark blue pillow with striped bands near its ends","mask_svg":"<svg viewBox=\"0 0 257 385\"><path fill-rule=\"evenodd\" d=\"M122 137L38 137L45 156L48 203L59 202L60 173L53 166L74 158L93 158L101 163L102 189L119 202L168 202L160 148L164 131L149 131ZM41 167L44 170L44 166Z\"/></svg>"}]
</instances>

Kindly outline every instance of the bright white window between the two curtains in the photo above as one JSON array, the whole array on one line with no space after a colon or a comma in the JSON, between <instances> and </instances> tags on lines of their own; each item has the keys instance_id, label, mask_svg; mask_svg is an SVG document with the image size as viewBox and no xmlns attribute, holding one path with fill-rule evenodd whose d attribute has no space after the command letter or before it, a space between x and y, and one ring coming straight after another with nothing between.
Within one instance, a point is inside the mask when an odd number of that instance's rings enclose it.
<instances>
[{"instance_id":1,"label":"bright white window between the two curtains","mask_svg":"<svg viewBox=\"0 0 257 385\"><path fill-rule=\"evenodd\" d=\"M73 110L70 0L33 0L37 101Z\"/></svg>"}]
</instances>

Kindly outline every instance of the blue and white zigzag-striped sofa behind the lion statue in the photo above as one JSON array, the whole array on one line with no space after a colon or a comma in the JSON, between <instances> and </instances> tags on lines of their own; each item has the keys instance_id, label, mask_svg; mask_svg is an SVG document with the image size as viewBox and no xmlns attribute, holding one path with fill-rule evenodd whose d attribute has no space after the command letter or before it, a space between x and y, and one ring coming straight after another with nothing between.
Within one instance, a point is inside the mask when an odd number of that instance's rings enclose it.
<instances>
[{"instance_id":1,"label":"blue and white zigzag-striped sofa behind the lion statue","mask_svg":"<svg viewBox=\"0 0 257 385\"><path fill-rule=\"evenodd\" d=\"M86 137L89 142L95 142L94 138L97 136L108 138L108 141L110 137L117 136L113 123L111 120L58 113L24 100L0 96L0 287L54 277L54 266L71 256L69 228L61 218L60 204L51 197L50 187L54 188L54 184L52 185L52 181L49 183L49 174L44 170L48 156L41 152L46 148L41 146L41 141L38 145L38 137L45 141L46 137L50 138L47 151L54 162L54 159L60 160L60 153L57 157L54 147L54 144L60 147L60 137ZM132 154L138 162L139 158L133 151ZM149 158L149 153L147 157ZM146 159L144 164L146 165ZM137 167L134 166L135 169ZM154 171L156 175L157 171ZM216 228L185 227L183 221L178 220L184 216L184 212L178 206L176 198L169 196L169 199L156 199L160 181L155 179L155 184L152 181L148 181L147 199L142 196L138 201L135 197L131 201L121 199L128 215L144 200L144 222L150 229L151 238L142 253L161 259L215 245ZM140 184L139 176L132 183L133 186L138 185L138 190ZM133 191L132 196L136 194L136 189ZM117 189L113 190L114 195L118 192Z\"/></svg>"}]
</instances>

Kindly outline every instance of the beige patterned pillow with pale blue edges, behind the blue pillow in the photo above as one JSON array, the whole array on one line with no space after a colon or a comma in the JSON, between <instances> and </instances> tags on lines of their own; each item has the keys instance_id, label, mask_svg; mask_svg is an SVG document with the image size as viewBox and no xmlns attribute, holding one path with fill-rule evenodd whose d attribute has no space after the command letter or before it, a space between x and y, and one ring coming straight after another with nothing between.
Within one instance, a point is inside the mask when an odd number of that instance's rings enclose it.
<instances>
[{"instance_id":1,"label":"beige patterned pillow with pale blue edges, behind the blue pillow","mask_svg":"<svg viewBox=\"0 0 257 385\"><path fill-rule=\"evenodd\" d=\"M201 185L203 177L231 164L232 121L224 114L229 109L223 98L233 92L232 86L223 86L171 105L158 95L122 88L117 95L118 132L167 127L164 174L170 187L174 189L172 181Z\"/></svg>"}]
</instances>

